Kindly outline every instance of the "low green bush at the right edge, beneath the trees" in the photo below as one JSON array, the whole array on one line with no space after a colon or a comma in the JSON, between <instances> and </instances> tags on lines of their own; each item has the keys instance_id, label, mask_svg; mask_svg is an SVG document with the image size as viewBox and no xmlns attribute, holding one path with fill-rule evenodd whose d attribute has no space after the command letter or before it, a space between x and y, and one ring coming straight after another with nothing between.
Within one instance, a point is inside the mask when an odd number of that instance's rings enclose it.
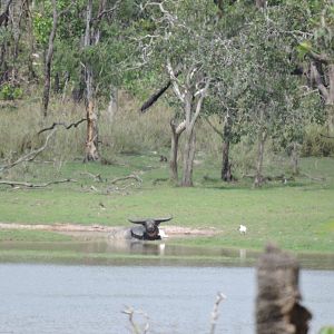
<instances>
[{"instance_id":1,"label":"low green bush at the right edge, beneath the trees","mask_svg":"<svg viewBox=\"0 0 334 334\"><path fill-rule=\"evenodd\" d=\"M334 156L334 139L324 137L324 126L311 125L306 128L301 154L304 157Z\"/></svg>"}]
</instances>

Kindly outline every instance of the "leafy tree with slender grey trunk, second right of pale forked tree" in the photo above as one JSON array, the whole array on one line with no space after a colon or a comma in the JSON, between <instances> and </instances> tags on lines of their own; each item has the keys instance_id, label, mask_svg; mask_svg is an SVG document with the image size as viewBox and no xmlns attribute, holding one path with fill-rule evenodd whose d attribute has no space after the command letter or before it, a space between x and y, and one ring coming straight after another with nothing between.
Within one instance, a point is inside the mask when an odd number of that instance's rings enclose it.
<instances>
[{"instance_id":1,"label":"leafy tree with slender grey trunk, second right of pale forked tree","mask_svg":"<svg viewBox=\"0 0 334 334\"><path fill-rule=\"evenodd\" d=\"M261 186L265 143L283 126L286 95L291 91L288 40L269 18L282 14L282 7L255 12L239 35L240 71L244 71L244 95L238 99L248 131L257 137L256 175L254 185Z\"/></svg>"}]
</instances>

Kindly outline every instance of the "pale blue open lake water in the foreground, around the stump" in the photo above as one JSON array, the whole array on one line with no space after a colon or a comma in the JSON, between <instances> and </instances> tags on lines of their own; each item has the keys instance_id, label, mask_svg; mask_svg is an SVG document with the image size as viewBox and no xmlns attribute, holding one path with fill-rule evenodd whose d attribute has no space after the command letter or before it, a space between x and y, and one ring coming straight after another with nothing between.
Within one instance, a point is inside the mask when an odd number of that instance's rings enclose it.
<instances>
[{"instance_id":1,"label":"pale blue open lake water in the foreground, around the stump","mask_svg":"<svg viewBox=\"0 0 334 334\"><path fill-rule=\"evenodd\" d=\"M334 324L334 272L304 269L301 287L311 333ZM0 264L0 333L131 333L126 306L149 315L149 333L208 333L217 292L216 334L254 333L252 267Z\"/></svg>"}]
</instances>

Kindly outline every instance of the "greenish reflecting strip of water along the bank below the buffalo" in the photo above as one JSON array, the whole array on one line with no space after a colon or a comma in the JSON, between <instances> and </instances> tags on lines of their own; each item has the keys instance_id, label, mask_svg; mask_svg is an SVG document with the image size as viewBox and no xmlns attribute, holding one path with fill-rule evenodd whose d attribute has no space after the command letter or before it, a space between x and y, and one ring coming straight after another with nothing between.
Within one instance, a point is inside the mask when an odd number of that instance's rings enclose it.
<instances>
[{"instance_id":1,"label":"greenish reflecting strip of water along the bank below the buffalo","mask_svg":"<svg viewBox=\"0 0 334 334\"><path fill-rule=\"evenodd\" d=\"M30 252L30 253L29 253ZM89 264L254 266L261 252L190 247L168 242L95 239L61 243L0 243L0 262L43 261ZM65 256L66 255L66 256ZM21 256L21 257L20 257ZM334 269L334 254L299 254L304 268Z\"/></svg>"}]
</instances>

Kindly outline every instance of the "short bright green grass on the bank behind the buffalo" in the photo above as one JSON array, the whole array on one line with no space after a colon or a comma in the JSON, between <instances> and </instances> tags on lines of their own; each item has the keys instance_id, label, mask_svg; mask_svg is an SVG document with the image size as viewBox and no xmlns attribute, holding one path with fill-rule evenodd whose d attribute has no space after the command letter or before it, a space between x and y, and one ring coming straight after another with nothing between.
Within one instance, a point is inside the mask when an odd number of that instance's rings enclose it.
<instances>
[{"instance_id":1,"label":"short bright green grass on the bank behind the buffalo","mask_svg":"<svg viewBox=\"0 0 334 334\"><path fill-rule=\"evenodd\" d=\"M276 165L267 166L274 175L275 168L279 169ZM129 226L128 217L170 214L173 225L214 227L222 232L212 238L176 243L261 249L272 240L295 252L334 252L333 158L303 159L302 173L307 176L287 185L271 183L262 189L253 189L250 180L245 179L230 185L222 183L219 160L203 160L196 166L194 188L175 187L168 181L155 184L155 179L168 177L168 166L153 153L119 155L115 165L77 161L57 169L48 164L33 164L26 169L24 179L33 183L61 178L73 178L77 183L43 189L0 186L1 223ZM104 181L94 180L87 173L100 174ZM107 194L110 180L129 174L143 179L140 187L118 184L129 187ZM324 180L315 180L320 177ZM101 209L100 203L106 209ZM239 224L247 226L246 236L238 234Z\"/></svg>"}]
</instances>

